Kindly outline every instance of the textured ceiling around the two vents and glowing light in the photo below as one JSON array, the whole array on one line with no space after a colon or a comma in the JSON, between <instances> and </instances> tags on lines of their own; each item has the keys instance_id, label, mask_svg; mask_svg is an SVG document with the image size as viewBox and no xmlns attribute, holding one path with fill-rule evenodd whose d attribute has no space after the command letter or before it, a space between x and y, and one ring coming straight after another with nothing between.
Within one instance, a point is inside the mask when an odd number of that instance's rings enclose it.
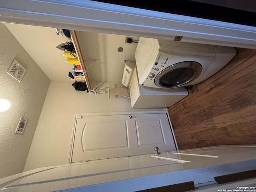
<instances>
[{"instance_id":1,"label":"textured ceiling around the two vents and glowing light","mask_svg":"<svg viewBox=\"0 0 256 192\"><path fill-rule=\"evenodd\" d=\"M0 112L2 178L20 173L24 168L50 80L2 23L0 44L0 98L11 103L9 110ZM6 74L14 59L27 70L22 82ZM28 118L23 135L14 133L20 116Z\"/></svg>"}]
</instances>

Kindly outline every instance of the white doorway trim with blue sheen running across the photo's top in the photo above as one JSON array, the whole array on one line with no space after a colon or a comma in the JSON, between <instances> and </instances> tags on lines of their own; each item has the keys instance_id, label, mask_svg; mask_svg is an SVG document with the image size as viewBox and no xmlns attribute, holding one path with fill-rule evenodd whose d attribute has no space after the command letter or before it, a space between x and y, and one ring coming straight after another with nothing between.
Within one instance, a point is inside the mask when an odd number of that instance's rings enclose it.
<instances>
[{"instance_id":1,"label":"white doorway trim with blue sheen running across the photo's top","mask_svg":"<svg viewBox=\"0 0 256 192\"><path fill-rule=\"evenodd\" d=\"M256 27L91 0L2 1L0 21L256 49Z\"/></svg>"}]
</instances>

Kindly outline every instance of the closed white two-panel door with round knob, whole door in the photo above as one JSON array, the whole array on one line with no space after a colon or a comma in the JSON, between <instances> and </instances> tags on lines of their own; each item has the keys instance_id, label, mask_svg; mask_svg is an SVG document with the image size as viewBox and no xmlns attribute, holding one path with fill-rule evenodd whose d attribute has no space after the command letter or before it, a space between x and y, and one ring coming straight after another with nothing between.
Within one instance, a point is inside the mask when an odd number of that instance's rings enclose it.
<instances>
[{"instance_id":1,"label":"closed white two-panel door with round knob, whole door","mask_svg":"<svg viewBox=\"0 0 256 192\"><path fill-rule=\"evenodd\" d=\"M129 116L131 118L129 118ZM176 150L167 114L82 116L72 162Z\"/></svg>"}]
</instances>

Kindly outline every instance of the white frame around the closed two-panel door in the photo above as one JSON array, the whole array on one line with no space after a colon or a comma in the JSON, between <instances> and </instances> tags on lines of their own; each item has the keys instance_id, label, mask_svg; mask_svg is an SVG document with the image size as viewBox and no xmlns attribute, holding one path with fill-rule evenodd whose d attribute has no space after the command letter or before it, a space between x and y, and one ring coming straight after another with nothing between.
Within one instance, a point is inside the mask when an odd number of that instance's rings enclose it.
<instances>
[{"instance_id":1,"label":"white frame around the closed two-panel door","mask_svg":"<svg viewBox=\"0 0 256 192\"><path fill-rule=\"evenodd\" d=\"M70 141L70 150L69 150L69 155L68 155L68 164L71 164L72 162L72 154L73 154L73 148L74 148L74 139L75 139L75 133L76 133L76 119L79 116L108 116L108 115L130 115L130 114L159 114L159 113L164 113L167 114L168 122L170 124L172 136L174 139L174 144L176 146L176 149L178 150L176 138L174 135L174 131L172 128L172 124L170 121L170 116L168 114L167 108L163 108L163 110L156 110L156 111L132 111L132 112L105 112L105 113L79 113L74 115L74 122L73 122L73 127L72 127L72 135L71 135L71 141Z\"/></svg>"}]
</instances>

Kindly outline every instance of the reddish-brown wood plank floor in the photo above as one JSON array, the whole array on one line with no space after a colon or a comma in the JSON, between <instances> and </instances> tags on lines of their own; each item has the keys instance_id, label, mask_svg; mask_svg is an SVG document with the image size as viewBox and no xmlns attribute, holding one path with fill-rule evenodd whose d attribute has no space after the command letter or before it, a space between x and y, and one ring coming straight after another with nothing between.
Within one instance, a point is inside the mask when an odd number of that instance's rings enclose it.
<instances>
[{"instance_id":1,"label":"reddish-brown wood plank floor","mask_svg":"<svg viewBox=\"0 0 256 192\"><path fill-rule=\"evenodd\" d=\"M256 144L256 50L236 50L222 70L168 108L180 150Z\"/></svg>"}]
</instances>

